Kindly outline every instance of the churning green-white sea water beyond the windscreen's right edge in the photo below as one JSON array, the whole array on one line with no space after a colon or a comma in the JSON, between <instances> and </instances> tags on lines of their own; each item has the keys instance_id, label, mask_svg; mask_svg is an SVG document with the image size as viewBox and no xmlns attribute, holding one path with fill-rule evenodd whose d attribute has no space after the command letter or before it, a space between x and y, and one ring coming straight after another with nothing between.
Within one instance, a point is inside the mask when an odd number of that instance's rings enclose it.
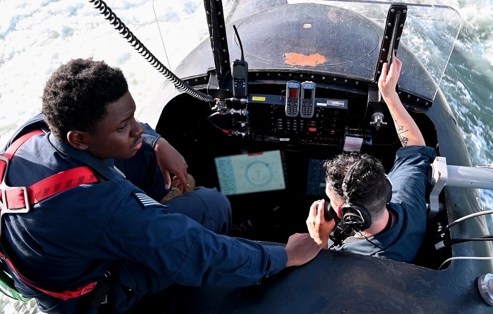
<instances>
[{"instance_id":1,"label":"churning green-white sea water beyond the windscreen's right edge","mask_svg":"<svg viewBox=\"0 0 493 314\"><path fill-rule=\"evenodd\" d=\"M493 163L493 1L455 2L447 5L458 9L462 30L440 87L464 132L472 164ZM493 192L480 193L484 210L493 209Z\"/></svg>"}]
</instances>

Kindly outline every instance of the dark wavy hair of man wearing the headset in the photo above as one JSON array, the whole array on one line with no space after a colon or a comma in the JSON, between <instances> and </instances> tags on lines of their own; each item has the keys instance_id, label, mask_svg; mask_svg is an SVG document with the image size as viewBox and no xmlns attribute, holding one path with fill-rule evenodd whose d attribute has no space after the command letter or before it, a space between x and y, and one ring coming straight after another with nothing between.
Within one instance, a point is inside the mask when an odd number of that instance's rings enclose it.
<instances>
[{"instance_id":1,"label":"dark wavy hair of man wearing the headset","mask_svg":"<svg viewBox=\"0 0 493 314\"><path fill-rule=\"evenodd\" d=\"M377 158L368 154L344 153L327 160L323 163L325 182L347 201L342 183L351 167L346 188L350 202L366 208L372 219L381 218L387 202L387 183L384 166Z\"/></svg>"}]
</instances>

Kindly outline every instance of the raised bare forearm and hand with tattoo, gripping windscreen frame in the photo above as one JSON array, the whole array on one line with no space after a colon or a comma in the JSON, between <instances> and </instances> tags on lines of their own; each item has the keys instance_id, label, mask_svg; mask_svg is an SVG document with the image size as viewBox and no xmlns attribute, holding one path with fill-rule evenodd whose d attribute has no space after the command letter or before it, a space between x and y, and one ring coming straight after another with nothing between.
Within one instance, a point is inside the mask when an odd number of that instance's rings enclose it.
<instances>
[{"instance_id":1,"label":"raised bare forearm and hand with tattoo, gripping windscreen frame","mask_svg":"<svg viewBox=\"0 0 493 314\"><path fill-rule=\"evenodd\" d=\"M388 63L384 63L382 67L382 75L378 80L378 88L387 104L388 111L394 121L397 136L402 146L425 145L423 134L416 125L416 122L411 118L407 110L402 105L402 102L395 91L397 80L402 68L402 62L393 57L394 62L388 68Z\"/></svg>"}]
</instances>

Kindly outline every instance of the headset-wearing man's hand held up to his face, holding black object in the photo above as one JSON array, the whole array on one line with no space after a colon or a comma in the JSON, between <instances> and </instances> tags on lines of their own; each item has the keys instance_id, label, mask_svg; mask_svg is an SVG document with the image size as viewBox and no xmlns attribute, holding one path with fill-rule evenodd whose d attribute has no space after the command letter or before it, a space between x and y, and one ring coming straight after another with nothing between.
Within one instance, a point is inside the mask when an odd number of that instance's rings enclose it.
<instances>
[{"instance_id":1,"label":"headset-wearing man's hand held up to his face, holding black object","mask_svg":"<svg viewBox=\"0 0 493 314\"><path fill-rule=\"evenodd\" d=\"M323 206L325 200L315 201L310 207L310 214L307 218L307 227L310 236L317 242L317 244L322 245L324 249L328 248L327 240L329 235L334 229L336 223L332 220L325 220L323 217Z\"/></svg>"}]
</instances>

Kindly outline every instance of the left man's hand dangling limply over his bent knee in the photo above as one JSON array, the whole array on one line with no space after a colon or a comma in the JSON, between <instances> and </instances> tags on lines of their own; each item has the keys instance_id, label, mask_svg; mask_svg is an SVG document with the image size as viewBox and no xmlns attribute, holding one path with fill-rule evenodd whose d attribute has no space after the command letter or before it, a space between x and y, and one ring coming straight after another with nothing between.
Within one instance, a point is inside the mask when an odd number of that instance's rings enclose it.
<instances>
[{"instance_id":1,"label":"left man's hand dangling limply over his bent knee","mask_svg":"<svg viewBox=\"0 0 493 314\"><path fill-rule=\"evenodd\" d=\"M154 152L156 152L157 164L163 173L166 188L171 187L171 172L175 174L176 178L180 181L181 191L184 193L188 180L188 165L185 158L183 158L183 156L181 156L180 153L178 153L178 151L162 137L158 138L154 144Z\"/></svg>"}]
</instances>

